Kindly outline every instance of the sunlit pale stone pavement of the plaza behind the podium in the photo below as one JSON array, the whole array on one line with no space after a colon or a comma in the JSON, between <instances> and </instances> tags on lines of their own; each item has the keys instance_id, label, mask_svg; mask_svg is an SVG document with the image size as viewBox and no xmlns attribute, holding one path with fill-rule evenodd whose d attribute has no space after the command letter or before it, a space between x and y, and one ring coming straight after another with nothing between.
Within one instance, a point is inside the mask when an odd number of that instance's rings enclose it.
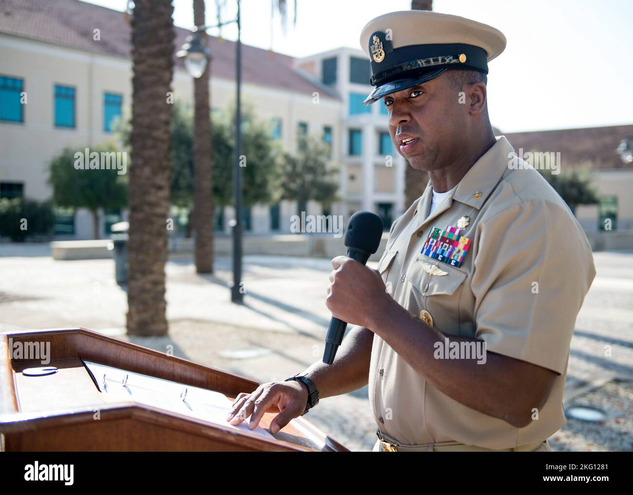
<instances>
[{"instance_id":1,"label":"sunlit pale stone pavement of the plaza behind the podium","mask_svg":"<svg viewBox=\"0 0 633 495\"><path fill-rule=\"evenodd\" d=\"M553 449L633 449L633 252L598 252L594 259L598 275L577 319L565 398L611 416L602 425L570 420L551 440ZM189 257L170 257L170 334L129 339L160 351L172 345L180 357L260 382L320 359L330 318L329 260L248 256L244 264L245 305L235 306L229 258L216 260L213 276L199 276ZM47 244L0 244L0 331L82 326L128 339L126 294L113 273L112 260L54 261ZM370 450L375 441L366 387L323 400L306 418L351 449Z\"/></svg>"}]
</instances>

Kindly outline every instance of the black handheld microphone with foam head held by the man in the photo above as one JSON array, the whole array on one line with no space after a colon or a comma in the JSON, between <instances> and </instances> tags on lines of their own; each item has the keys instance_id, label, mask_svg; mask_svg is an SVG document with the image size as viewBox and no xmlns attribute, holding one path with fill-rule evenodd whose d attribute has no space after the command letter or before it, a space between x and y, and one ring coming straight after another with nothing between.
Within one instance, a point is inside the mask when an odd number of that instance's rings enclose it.
<instances>
[{"instance_id":1,"label":"black handheld microphone with foam head held by the man","mask_svg":"<svg viewBox=\"0 0 633 495\"><path fill-rule=\"evenodd\" d=\"M380 238L384 224L382 219L370 211L357 211L349 217L348 229L345 232L345 246L348 248L348 257L363 265L374 254L380 245ZM325 337L325 352L323 362L332 364L348 324L338 318L330 319Z\"/></svg>"}]
</instances>

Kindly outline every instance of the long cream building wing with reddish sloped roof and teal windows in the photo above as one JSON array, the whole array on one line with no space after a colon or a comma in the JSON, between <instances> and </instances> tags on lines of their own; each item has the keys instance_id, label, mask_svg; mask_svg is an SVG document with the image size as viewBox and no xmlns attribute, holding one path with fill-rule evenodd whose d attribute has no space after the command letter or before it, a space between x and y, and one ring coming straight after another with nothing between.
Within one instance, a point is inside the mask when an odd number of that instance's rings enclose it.
<instances>
[{"instance_id":1,"label":"long cream building wing with reddish sloped roof and teal windows","mask_svg":"<svg viewBox=\"0 0 633 495\"><path fill-rule=\"evenodd\" d=\"M51 197L47 167L64 147L83 150L114 140L111 121L128 116L132 101L130 26L127 16L77 0L26 0L6 6L0 16L0 193L29 199ZM178 49L191 34L176 28ZM235 44L210 38L211 107L235 101ZM339 161L341 100L336 92L293 68L291 57L244 46L242 103L258 119L272 122L284 149L296 150L299 133L327 133ZM177 60L172 82L175 101L192 102L192 78ZM318 95L318 98L315 98ZM23 101L20 101L23 100ZM321 214L320 205L301 205ZM332 214L342 214L335 205ZM247 212L251 233L289 232L297 205L256 205ZM229 231L231 209L216 223ZM101 235L125 217L102 212ZM88 238L92 218L79 210L60 216L58 235Z\"/></svg>"}]
</instances>

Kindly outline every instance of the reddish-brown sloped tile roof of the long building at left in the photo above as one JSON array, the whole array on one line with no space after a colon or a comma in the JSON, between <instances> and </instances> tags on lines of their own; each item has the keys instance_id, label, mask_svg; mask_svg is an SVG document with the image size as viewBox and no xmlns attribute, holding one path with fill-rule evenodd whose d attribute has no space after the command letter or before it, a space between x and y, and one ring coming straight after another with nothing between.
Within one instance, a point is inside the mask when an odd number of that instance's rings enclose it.
<instances>
[{"instance_id":1,"label":"reddish-brown sloped tile roof of the long building at left","mask_svg":"<svg viewBox=\"0 0 633 495\"><path fill-rule=\"evenodd\" d=\"M93 39L99 28L101 40ZM174 53L189 30L174 27ZM82 51L131 58L131 28L128 15L78 0L3 0L0 3L0 33L74 48ZM235 42L209 37L213 59L211 76L234 80ZM176 59L182 66L182 60ZM294 59L277 52L242 44L244 82L277 89L303 92L311 96L338 99L331 89L292 68Z\"/></svg>"}]
</instances>

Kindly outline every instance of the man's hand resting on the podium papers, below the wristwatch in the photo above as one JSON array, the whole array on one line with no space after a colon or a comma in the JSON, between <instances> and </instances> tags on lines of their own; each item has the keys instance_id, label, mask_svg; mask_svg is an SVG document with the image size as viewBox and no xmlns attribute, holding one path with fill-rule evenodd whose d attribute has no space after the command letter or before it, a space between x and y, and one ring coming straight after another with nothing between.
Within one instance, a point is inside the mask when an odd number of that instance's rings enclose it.
<instances>
[{"instance_id":1,"label":"man's hand resting on the podium papers, below the wristwatch","mask_svg":"<svg viewBox=\"0 0 633 495\"><path fill-rule=\"evenodd\" d=\"M268 382L261 384L253 393L242 392L235 397L227 421L237 426L250 416L248 427L252 430L260 423L266 410L275 405L280 411L270 422L270 432L275 434L291 419L301 416L306 410L306 403L308 388L301 382Z\"/></svg>"}]
</instances>

